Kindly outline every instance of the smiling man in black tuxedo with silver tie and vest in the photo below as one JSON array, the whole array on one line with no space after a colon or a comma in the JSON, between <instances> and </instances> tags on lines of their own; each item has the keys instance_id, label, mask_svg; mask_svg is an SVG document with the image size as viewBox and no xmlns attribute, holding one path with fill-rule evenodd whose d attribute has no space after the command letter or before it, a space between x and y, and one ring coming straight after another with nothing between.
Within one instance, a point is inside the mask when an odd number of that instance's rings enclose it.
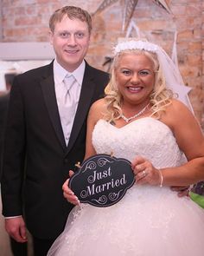
<instances>
[{"instance_id":1,"label":"smiling man in black tuxedo with silver tie and vest","mask_svg":"<svg viewBox=\"0 0 204 256\"><path fill-rule=\"evenodd\" d=\"M109 80L84 60L92 30L86 10L56 10L49 27L54 62L17 75L10 92L1 186L6 230L25 242L27 226L35 256L47 254L73 207L61 186L83 160L86 116Z\"/></svg>"}]
</instances>

